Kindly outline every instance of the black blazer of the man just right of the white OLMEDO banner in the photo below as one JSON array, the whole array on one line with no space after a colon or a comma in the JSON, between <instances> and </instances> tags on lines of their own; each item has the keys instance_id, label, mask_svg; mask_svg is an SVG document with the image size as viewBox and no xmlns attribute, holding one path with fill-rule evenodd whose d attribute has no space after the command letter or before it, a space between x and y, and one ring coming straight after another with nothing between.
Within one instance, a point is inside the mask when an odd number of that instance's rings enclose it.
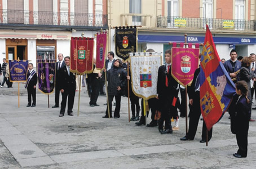
<instances>
[{"instance_id":1,"label":"black blazer of the man just right of the white OLMEDO banner","mask_svg":"<svg viewBox=\"0 0 256 169\"><path fill-rule=\"evenodd\" d=\"M168 87L165 85L166 80L166 65L162 65L158 68L158 77L157 77L157 94L159 99L165 99L166 97L170 97L171 99L173 96L178 97L178 82L173 78L171 75L171 66L169 70L169 74L167 74L168 79Z\"/></svg>"}]
</instances>

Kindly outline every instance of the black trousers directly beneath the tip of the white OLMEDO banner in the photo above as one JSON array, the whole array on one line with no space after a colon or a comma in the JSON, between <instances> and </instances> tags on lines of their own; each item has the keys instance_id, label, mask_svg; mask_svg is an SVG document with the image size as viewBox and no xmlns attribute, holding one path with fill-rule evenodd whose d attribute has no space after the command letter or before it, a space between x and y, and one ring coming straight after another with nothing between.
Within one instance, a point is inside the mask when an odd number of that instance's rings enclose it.
<instances>
[{"instance_id":1,"label":"black trousers directly beneath the tip of the white OLMEDO banner","mask_svg":"<svg viewBox=\"0 0 256 169\"><path fill-rule=\"evenodd\" d=\"M156 104L157 104L157 99L156 98L148 99L148 108L149 108L149 110L151 110L151 120L152 121L155 121ZM140 122L145 123L144 101L143 101L143 99L142 99L141 105L142 105L142 117L140 117ZM149 112L147 112L147 117L148 117L148 113Z\"/></svg>"}]
</instances>

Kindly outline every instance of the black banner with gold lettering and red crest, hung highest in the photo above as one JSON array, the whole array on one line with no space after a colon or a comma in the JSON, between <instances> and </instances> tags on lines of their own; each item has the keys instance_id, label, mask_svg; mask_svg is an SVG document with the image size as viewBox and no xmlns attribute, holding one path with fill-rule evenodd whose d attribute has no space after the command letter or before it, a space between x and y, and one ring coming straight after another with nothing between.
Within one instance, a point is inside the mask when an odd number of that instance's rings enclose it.
<instances>
[{"instance_id":1,"label":"black banner with gold lettering and red crest, hung highest","mask_svg":"<svg viewBox=\"0 0 256 169\"><path fill-rule=\"evenodd\" d=\"M129 59L130 52L137 51L137 29L123 27L117 29L114 35L114 41L116 44L116 55L122 60L126 61Z\"/></svg>"}]
</instances>

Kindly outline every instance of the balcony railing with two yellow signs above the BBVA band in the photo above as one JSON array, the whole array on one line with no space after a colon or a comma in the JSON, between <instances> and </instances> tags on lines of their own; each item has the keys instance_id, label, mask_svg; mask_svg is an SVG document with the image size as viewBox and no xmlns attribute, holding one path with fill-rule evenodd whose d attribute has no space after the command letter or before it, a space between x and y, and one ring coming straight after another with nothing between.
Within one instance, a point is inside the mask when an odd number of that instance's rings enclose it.
<instances>
[{"instance_id":1,"label":"balcony railing with two yellow signs above the BBVA band","mask_svg":"<svg viewBox=\"0 0 256 169\"><path fill-rule=\"evenodd\" d=\"M206 23L212 30L254 31L254 20L227 20L213 18L157 16L158 28L205 29Z\"/></svg>"}]
</instances>

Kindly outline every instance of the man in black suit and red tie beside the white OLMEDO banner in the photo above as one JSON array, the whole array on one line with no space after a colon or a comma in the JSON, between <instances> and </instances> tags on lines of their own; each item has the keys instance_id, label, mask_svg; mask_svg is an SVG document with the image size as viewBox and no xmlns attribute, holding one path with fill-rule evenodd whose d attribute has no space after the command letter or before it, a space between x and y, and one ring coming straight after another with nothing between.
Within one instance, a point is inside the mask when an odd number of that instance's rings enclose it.
<instances>
[{"instance_id":1,"label":"man in black suit and red tie beside the white OLMEDO banner","mask_svg":"<svg viewBox=\"0 0 256 169\"><path fill-rule=\"evenodd\" d=\"M178 82L171 75L171 50L165 51L165 65L158 68L157 77L157 99L159 99L160 106L158 110L161 112L161 118L158 120L158 130L161 134L172 134L171 127L171 112L174 111L173 99L178 97ZM175 102L175 101L174 101ZM163 124L165 121L165 131Z\"/></svg>"}]
</instances>

